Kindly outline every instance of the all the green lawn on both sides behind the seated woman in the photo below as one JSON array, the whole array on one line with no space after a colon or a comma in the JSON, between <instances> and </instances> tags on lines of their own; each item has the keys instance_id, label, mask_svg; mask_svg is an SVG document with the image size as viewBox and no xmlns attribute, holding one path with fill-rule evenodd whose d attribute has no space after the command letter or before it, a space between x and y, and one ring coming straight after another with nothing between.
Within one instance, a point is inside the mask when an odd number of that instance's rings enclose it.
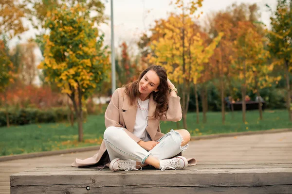
<instances>
[{"instance_id":1,"label":"all the green lawn on both sides behind the seated woman","mask_svg":"<svg viewBox=\"0 0 292 194\"><path fill-rule=\"evenodd\" d=\"M266 110L264 120L258 120L257 111L246 114L247 123L242 122L242 113L235 112L232 121L231 113L226 113L225 125L221 122L221 113L207 113L207 123L203 124L200 113L200 124L196 124L196 113L187 114L187 126L192 135L254 131L266 129L291 128L286 110ZM32 124L0 128L0 156L22 154L39 151L59 150L73 147L94 146L102 141L105 130L104 115L89 115L84 122L84 142L78 143L76 123L71 127L68 123ZM182 121L180 128L183 128ZM162 122L162 132L177 129L175 122Z\"/></svg>"}]
</instances>

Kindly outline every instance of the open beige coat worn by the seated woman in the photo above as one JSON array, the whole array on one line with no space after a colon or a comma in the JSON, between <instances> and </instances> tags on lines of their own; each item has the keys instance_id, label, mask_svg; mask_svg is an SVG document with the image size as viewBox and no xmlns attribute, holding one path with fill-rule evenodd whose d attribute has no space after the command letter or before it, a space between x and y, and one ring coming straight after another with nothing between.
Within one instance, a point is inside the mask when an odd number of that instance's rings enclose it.
<instances>
[{"instance_id":1,"label":"open beige coat worn by the seated woman","mask_svg":"<svg viewBox=\"0 0 292 194\"><path fill-rule=\"evenodd\" d=\"M168 110L166 116L162 116L161 119L149 118L146 131L151 137L152 141L159 140L164 133L160 130L160 121L180 121L182 119L182 108L180 103L180 97L170 97L168 102ZM153 96L150 95L149 100L149 112L148 116L151 117L156 109L156 102L153 100ZM135 141L139 142L141 139L133 134L135 120L136 120L137 107L136 104L130 105L130 98L125 94L125 88L118 88L111 97L110 104L105 113L105 125L106 128L110 126L122 127L128 135ZM109 156L106 151L104 141L101 143L99 152L91 158L80 160L76 159L72 166L95 166L105 167L109 166ZM189 165L195 165L195 159L188 159Z\"/></svg>"}]
</instances>

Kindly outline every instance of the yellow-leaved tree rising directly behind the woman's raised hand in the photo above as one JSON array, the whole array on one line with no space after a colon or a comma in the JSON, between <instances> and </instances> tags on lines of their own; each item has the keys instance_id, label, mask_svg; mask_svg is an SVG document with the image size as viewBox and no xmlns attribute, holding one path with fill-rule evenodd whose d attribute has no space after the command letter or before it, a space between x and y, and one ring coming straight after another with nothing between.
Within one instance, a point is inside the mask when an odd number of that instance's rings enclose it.
<instances>
[{"instance_id":1,"label":"yellow-leaved tree rising directly behind the woman's raised hand","mask_svg":"<svg viewBox=\"0 0 292 194\"><path fill-rule=\"evenodd\" d=\"M183 127L186 126L186 113L188 110L190 86L195 84L201 76L202 64L212 56L213 50L219 42L220 36L209 46L204 47L197 25L191 17L182 15L169 16L167 29L157 29L165 35L158 41L153 41L151 49L154 56L150 62L163 65L170 80L179 84L180 95L183 100Z\"/></svg>"}]
</instances>

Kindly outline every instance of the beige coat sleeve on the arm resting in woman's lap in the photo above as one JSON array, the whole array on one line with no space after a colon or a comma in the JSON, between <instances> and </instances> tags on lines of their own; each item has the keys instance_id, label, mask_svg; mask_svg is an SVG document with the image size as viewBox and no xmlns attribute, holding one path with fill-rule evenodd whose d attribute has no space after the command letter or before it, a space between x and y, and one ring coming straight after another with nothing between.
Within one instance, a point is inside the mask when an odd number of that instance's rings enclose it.
<instances>
[{"instance_id":1,"label":"beige coat sleeve on the arm resting in woman's lap","mask_svg":"<svg viewBox=\"0 0 292 194\"><path fill-rule=\"evenodd\" d=\"M119 112L119 89L116 89L114 93L112 94L110 103L107 107L106 113L105 113L105 125L106 128L113 126L113 127L120 127L123 128L124 131L132 138L135 142L139 142L141 139L128 131L126 128L124 128L120 124L120 112ZM122 94L120 94L121 96Z\"/></svg>"}]
</instances>

